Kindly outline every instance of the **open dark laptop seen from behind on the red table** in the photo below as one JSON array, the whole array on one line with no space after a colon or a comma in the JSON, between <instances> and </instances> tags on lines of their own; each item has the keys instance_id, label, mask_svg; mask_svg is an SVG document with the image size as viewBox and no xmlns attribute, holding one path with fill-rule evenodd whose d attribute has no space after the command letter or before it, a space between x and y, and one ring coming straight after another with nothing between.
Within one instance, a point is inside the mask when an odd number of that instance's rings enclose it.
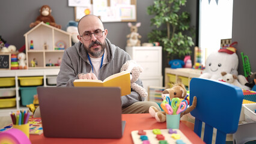
<instances>
[{"instance_id":1,"label":"open dark laptop seen from behind on the red table","mask_svg":"<svg viewBox=\"0 0 256 144\"><path fill-rule=\"evenodd\" d=\"M110 138L123 136L120 88L37 88L45 137Z\"/></svg>"}]
</instances>

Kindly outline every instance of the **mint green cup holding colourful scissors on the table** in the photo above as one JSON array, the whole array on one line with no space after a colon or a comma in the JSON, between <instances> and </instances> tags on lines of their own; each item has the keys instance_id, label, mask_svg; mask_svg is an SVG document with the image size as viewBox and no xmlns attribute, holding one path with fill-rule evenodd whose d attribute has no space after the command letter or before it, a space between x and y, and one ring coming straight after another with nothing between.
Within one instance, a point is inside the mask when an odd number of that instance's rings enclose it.
<instances>
[{"instance_id":1,"label":"mint green cup holding colourful scissors on the table","mask_svg":"<svg viewBox=\"0 0 256 144\"><path fill-rule=\"evenodd\" d=\"M166 126L167 128L178 129L180 128L180 114L168 115L166 114Z\"/></svg>"}]
</instances>

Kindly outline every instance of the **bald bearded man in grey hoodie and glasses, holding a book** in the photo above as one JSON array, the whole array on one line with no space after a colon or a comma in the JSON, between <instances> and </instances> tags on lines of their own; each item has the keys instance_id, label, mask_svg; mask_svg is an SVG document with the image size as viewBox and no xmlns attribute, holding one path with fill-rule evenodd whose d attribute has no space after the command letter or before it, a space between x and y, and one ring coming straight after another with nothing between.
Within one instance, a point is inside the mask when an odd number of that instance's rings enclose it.
<instances>
[{"instance_id":1,"label":"bald bearded man in grey hoodie and glasses, holding a book","mask_svg":"<svg viewBox=\"0 0 256 144\"><path fill-rule=\"evenodd\" d=\"M106 38L108 29L94 15L86 15L78 23L78 40L75 46L65 50L62 57L57 86L74 86L75 79L104 80L119 73L130 56ZM141 80L136 83L143 86ZM152 101L144 101L136 91L121 96L123 113L148 113L150 106L160 107Z\"/></svg>"}]
</instances>

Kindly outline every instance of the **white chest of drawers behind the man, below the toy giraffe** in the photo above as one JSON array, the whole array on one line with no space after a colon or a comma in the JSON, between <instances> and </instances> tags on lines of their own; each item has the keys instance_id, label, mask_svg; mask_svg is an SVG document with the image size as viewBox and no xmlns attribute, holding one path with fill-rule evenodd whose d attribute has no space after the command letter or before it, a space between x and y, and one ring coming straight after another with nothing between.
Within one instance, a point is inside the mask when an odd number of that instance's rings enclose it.
<instances>
[{"instance_id":1,"label":"white chest of drawers behind the man, below the toy giraffe","mask_svg":"<svg viewBox=\"0 0 256 144\"><path fill-rule=\"evenodd\" d=\"M162 47L134 46L126 47L126 52L143 68L140 79L144 88L162 86Z\"/></svg>"}]
</instances>

